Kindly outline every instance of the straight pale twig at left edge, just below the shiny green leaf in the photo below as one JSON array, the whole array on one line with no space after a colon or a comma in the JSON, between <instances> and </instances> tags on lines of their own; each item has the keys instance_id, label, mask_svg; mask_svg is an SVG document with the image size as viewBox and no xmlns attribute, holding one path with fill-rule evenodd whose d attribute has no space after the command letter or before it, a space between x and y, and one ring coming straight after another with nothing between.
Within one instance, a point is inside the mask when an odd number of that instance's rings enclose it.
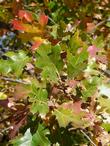
<instances>
[{"instance_id":1,"label":"straight pale twig at left edge, just below the shiny green leaf","mask_svg":"<svg viewBox=\"0 0 110 146\"><path fill-rule=\"evenodd\" d=\"M21 84L25 84L25 85L30 84L29 82L23 81L21 79L12 79L12 78L8 78L8 77L0 77L0 79L9 81L9 82L21 83Z\"/></svg>"}]
</instances>

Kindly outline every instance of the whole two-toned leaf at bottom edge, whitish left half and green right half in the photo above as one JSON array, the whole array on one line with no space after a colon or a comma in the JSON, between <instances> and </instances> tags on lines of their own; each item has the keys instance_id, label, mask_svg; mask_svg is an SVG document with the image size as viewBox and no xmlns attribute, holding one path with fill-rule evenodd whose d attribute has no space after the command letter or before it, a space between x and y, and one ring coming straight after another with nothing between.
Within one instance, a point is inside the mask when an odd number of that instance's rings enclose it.
<instances>
[{"instance_id":1,"label":"whole two-toned leaf at bottom edge, whitish left half and green right half","mask_svg":"<svg viewBox=\"0 0 110 146\"><path fill-rule=\"evenodd\" d=\"M24 136L13 140L13 146L50 146L50 142L46 135L49 130L43 125L39 125L36 133L32 136L30 129L27 129Z\"/></svg>"}]
</instances>

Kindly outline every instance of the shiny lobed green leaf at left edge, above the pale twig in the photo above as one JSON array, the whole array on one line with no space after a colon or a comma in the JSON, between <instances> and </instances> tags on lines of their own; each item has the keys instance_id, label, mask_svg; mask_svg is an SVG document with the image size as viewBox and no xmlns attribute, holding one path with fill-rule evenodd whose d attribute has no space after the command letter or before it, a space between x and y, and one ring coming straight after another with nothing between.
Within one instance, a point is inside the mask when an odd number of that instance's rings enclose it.
<instances>
[{"instance_id":1,"label":"shiny lobed green leaf at left edge, above the pale twig","mask_svg":"<svg viewBox=\"0 0 110 146\"><path fill-rule=\"evenodd\" d=\"M9 73L14 73L17 77L22 74L23 68L27 62L29 62L29 57L24 51L8 52L5 54L9 57L8 60L0 59L0 73L7 75Z\"/></svg>"}]
</instances>

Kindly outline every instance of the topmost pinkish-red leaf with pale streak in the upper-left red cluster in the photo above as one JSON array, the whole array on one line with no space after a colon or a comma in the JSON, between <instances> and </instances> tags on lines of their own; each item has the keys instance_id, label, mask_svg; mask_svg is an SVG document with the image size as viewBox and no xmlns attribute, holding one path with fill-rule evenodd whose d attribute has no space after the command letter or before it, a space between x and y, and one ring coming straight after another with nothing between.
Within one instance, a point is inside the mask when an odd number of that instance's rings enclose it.
<instances>
[{"instance_id":1,"label":"topmost pinkish-red leaf with pale streak in the upper-left red cluster","mask_svg":"<svg viewBox=\"0 0 110 146\"><path fill-rule=\"evenodd\" d=\"M24 18L28 22L32 22L32 20L33 20L32 14L25 10L20 10L18 13L18 16L20 19Z\"/></svg>"}]
</instances>

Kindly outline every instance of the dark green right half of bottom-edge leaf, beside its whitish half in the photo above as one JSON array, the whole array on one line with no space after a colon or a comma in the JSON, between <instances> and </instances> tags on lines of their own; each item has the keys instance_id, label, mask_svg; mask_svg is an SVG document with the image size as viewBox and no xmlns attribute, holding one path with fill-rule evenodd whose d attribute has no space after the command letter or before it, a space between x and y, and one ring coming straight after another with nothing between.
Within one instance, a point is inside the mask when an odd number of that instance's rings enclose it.
<instances>
[{"instance_id":1,"label":"dark green right half of bottom-edge leaf, beside its whitish half","mask_svg":"<svg viewBox=\"0 0 110 146\"><path fill-rule=\"evenodd\" d=\"M40 124L32 137L32 146L50 146L50 141L46 137L48 134L49 130Z\"/></svg>"}]
</instances>

